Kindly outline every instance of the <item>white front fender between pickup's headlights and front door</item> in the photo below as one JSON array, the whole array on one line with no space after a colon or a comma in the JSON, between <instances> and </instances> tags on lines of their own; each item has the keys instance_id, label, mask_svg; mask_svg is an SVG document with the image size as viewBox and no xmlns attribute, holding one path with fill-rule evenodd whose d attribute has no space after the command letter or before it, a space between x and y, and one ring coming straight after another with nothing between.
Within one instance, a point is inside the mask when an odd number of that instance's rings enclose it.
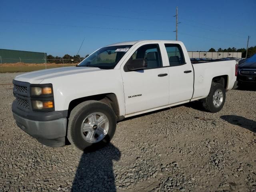
<instances>
[{"instance_id":1,"label":"white front fender between pickup's headlights and front door","mask_svg":"<svg viewBox=\"0 0 256 192\"><path fill-rule=\"evenodd\" d=\"M118 69L60 76L41 82L44 83L52 83L56 111L68 110L70 102L78 98L114 93L120 115L125 114L123 82Z\"/></svg>"}]
</instances>

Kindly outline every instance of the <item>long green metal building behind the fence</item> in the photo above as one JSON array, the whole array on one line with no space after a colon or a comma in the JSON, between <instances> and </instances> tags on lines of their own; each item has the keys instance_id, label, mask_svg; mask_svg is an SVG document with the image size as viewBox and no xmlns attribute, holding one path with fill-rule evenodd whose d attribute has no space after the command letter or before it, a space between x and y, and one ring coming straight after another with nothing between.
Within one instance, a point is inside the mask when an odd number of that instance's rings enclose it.
<instances>
[{"instance_id":1,"label":"long green metal building behind the fence","mask_svg":"<svg viewBox=\"0 0 256 192\"><path fill-rule=\"evenodd\" d=\"M44 63L47 54L42 52L0 49L2 63Z\"/></svg>"}]
</instances>

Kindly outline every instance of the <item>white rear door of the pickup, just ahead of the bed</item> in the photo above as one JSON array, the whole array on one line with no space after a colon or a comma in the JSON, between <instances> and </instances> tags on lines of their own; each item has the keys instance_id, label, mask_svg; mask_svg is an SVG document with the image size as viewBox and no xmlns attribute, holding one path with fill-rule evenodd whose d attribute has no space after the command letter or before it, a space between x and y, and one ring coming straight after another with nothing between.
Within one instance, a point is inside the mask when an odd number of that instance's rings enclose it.
<instances>
[{"instance_id":1,"label":"white rear door of the pickup, just ahead of the bed","mask_svg":"<svg viewBox=\"0 0 256 192\"><path fill-rule=\"evenodd\" d=\"M165 43L165 56L169 73L169 104L188 102L192 98L194 74L190 61L186 63L184 45ZM186 58L189 59L189 58Z\"/></svg>"}]
</instances>

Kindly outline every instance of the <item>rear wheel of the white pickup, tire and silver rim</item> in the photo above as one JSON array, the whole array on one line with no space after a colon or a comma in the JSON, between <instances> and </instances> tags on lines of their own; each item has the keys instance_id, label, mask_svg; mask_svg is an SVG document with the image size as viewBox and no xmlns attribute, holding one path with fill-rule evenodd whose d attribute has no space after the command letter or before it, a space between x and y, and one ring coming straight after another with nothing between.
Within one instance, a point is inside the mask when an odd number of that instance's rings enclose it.
<instances>
[{"instance_id":1,"label":"rear wheel of the white pickup, tire and silver rim","mask_svg":"<svg viewBox=\"0 0 256 192\"><path fill-rule=\"evenodd\" d=\"M217 98L216 98L216 95L214 95L214 94L217 92L217 90L219 92L218 96L220 96L220 97L217 96ZM221 92L222 92L222 99L221 99L221 94L220 94ZM214 99L214 97L216 99ZM217 100L217 102L214 104L214 101L216 101L216 100ZM220 83L212 82L210 92L206 98L202 99L202 104L206 111L211 112L211 113L216 113L216 112L219 112L223 108L225 100L226 100L226 90L225 90L224 86ZM220 103L220 101L221 101L221 103Z\"/></svg>"}]
</instances>

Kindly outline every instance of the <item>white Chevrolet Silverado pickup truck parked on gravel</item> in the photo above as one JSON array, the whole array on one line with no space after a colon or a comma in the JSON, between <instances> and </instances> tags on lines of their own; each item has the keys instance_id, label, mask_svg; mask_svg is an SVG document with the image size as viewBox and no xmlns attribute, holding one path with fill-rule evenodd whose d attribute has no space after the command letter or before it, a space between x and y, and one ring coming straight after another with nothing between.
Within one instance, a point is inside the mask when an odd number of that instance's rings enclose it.
<instances>
[{"instance_id":1,"label":"white Chevrolet Silverado pickup truck parked on gravel","mask_svg":"<svg viewBox=\"0 0 256 192\"><path fill-rule=\"evenodd\" d=\"M192 64L182 42L140 40L104 46L76 67L39 70L13 80L16 124L42 144L106 145L116 122L201 100L222 109L236 88L236 61Z\"/></svg>"}]
</instances>

